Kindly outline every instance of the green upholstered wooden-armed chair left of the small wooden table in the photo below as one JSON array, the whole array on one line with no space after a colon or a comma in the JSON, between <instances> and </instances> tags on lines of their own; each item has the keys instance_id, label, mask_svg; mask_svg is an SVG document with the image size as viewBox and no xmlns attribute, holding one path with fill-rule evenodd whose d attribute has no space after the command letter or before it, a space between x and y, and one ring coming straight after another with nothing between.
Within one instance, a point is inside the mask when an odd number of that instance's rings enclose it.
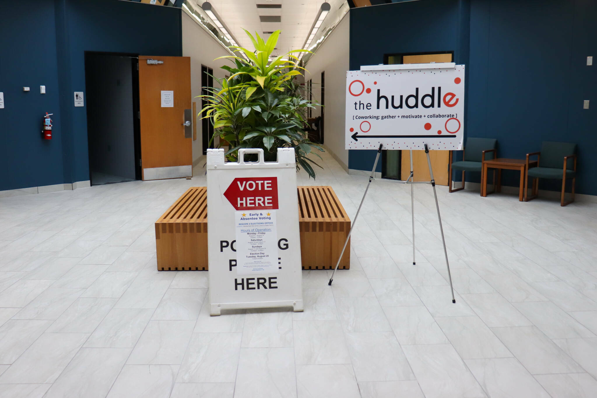
<instances>
[{"instance_id":1,"label":"green upholstered wooden-armed chair left of the small wooden table","mask_svg":"<svg viewBox=\"0 0 597 398\"><path fill-rule=\"evenodd\" d=\"M497 158L496 156L496 146L497 140L495 138L473 138L469 137L466 139L466 144L464 145L462 161L460 162L452 162L452 151L450 151L450 156L448 160L448 175L450 180L448 181L448 187L450 187L450 192L456 192L461 189L464 189L464 173L467 171L478 171L481 172L481 168L483 165L483 161L485 160L485 156L487 159L494 159ZM452 188L452 170L460 170L462 171L462 187L453 189ZM493 172L493 184L494 190L496 187L496 171Z\"/></svg>"}]
</instances>

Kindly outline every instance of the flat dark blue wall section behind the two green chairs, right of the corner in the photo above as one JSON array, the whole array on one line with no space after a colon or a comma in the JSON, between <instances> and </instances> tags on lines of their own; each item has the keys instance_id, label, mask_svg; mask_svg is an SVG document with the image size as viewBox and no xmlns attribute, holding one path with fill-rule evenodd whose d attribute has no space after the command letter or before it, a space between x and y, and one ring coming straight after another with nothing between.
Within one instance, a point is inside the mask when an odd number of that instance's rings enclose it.
<instances>
[{"instance_id":1,"label":"flat dark blue wall section behind the two green chairs, right of the corner","mask_svg":"<svg viewBox=\"0 0 597 398\"><path fill-rule=\"evenodd\" d=\"M472 1L468 68L467 134L497 138L503 158L522 159L541 141L578 143L577 192L589 195L597 195L597 113L583 100L597 100L597 69L586 66L596 18L592 0ZM504 172L504 184L518 181ZM540 188L559 190L561 181Z\"/></svg>"}]
</instances>

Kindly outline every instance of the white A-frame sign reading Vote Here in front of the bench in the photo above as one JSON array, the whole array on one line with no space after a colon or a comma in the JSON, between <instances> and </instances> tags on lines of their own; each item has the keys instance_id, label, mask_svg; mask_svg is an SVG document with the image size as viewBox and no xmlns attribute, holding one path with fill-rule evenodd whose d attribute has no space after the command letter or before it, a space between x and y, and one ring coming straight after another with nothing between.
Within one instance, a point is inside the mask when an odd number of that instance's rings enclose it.
<instances>
[{"instance_id":1,"label":"white A-frame sign reading Vote Here in front of the bench","mask_svg":"<svg viewBox=\"0 0 597 398\"><path fill-rule=\"evenodd\" d=\"M256 162L245 155L256 154ZM293 307L303 310L296 164L293 148L277 162L263 150L207 151L210 314L222 309Z\"/></svg>"}]
</instances>

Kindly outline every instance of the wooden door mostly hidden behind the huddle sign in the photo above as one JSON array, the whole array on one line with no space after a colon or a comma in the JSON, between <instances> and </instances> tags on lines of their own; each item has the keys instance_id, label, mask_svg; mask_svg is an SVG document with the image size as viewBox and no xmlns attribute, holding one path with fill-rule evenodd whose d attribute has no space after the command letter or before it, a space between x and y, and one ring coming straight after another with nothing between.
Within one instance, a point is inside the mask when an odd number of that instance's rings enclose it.
<instances>
[{"instance_id":1,"label":"wooden door mostly hidden behind the huddle sign","mask_svg":"<svg viewBox=\"0 0 597 398\"><path fill-rule=\"evenodd\" d=\"M452 62L452 54L423 54L423 55L404 55L402 63L405 64L424 64L430 62ZM433 178L437 185L448 185L448 151L430 150L431 169ZM423 150L413 151L414 181L429 181L429 165L427 165L427 156ZM410 153L408 150L402 151L401 161L401 180L406 180L410 175Z\"/></svg>"}]
</instances>

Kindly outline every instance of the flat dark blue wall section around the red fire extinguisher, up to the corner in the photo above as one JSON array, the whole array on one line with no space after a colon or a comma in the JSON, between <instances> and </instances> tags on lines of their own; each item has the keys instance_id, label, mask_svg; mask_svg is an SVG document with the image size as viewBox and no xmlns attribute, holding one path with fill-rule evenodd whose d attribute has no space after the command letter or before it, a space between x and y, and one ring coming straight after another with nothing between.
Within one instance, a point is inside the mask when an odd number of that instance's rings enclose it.
<instances>
[{"instance_id":1,"label":"flat dark blue wall section around the red fire extinguisher, up to the corner","mask_svg":"<svg viewBox=\"0 0 597 398\"><path fill-rule=\"evenodd\" d=\"M0 2L0 190L63 183L56 26L51 1ZM26 23L26 21L29 21ZM45 85L47 94L39 94ZM23 87L31 91L23 92ZM45 112L54 139L42 140Z\"/></svg>"}]
</instances>

